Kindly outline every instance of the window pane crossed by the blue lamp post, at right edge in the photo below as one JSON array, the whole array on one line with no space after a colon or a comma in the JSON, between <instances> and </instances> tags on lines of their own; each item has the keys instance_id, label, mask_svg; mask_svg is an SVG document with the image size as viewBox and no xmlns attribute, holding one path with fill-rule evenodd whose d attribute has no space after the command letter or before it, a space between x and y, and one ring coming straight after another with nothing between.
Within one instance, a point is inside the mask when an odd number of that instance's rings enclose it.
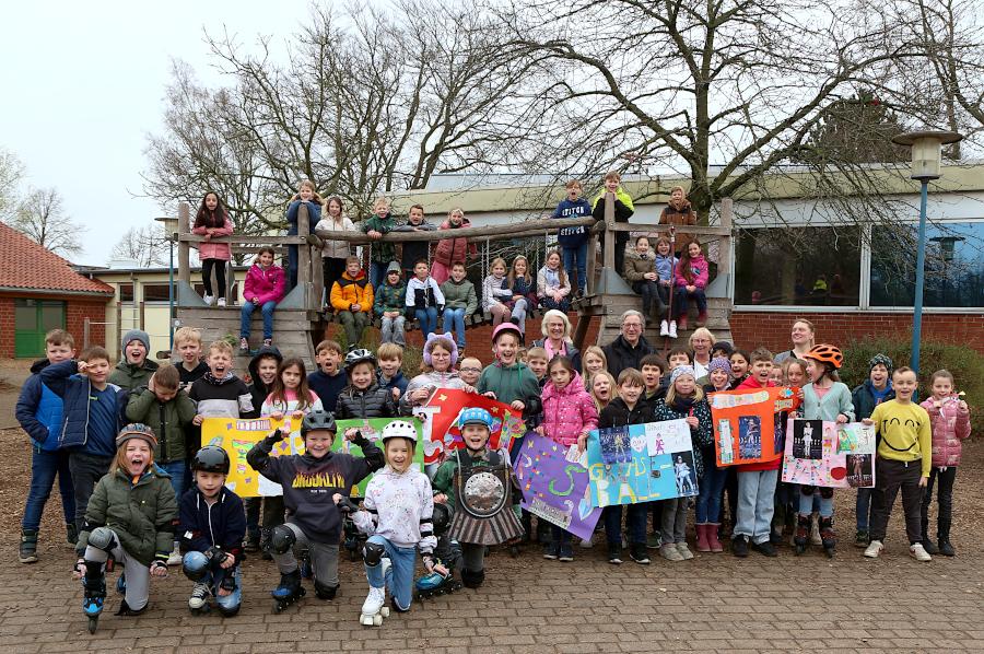
<instances>
[{"instance_id":1,"label":"window pane crossed by the blue lamp post, at right edge","mask_svg":"<svg viewBox=\"0 0 984 654\"><path fill-rule=\"evenodd\" d=\"M875 227L871 305L912 306L918 225ZM984 222L926 225L923 306L984 306Z\"/></svg>"}]
</instances>

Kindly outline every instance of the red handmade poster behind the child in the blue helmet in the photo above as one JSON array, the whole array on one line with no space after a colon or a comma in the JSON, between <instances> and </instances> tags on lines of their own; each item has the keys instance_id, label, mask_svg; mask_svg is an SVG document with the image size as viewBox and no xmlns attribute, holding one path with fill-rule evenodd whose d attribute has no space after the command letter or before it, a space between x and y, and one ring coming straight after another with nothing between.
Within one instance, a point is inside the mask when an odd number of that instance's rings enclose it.
<instances>
[{"instance_id":1,"label":"red handmade poster behind the child in the blue helmet","mask_svg":"<svg viewBox=\"0 0 984 654\"><path fill-rule=\"evenodd\" d=\"M458 416L469 407L480 407L492 414L492 436L489 439L489 447L493 449L508 449L513 439L522 437L526 433L523 416L508 405L475 393L438 388L422 411L414 410L414 414L419 418L430 421L424 428L424 432L429 434L423 447L425 464L441 463L448 452L462 446Z\"/></svg>"}]
</instances>

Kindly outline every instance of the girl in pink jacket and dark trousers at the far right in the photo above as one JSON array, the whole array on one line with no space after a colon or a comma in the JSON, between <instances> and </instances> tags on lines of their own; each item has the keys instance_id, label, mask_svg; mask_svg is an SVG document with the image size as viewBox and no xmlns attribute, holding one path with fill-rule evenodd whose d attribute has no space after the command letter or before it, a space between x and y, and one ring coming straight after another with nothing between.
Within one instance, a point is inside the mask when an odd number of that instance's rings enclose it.
<instances>
[{"instance_id":1,"label":"girl in pink jacket and dark trousers at the far right","mask_svg":"<svg viewBox=\"0 0 984 654\"><path fill-rule=\"evenodd\" d=\"M957 394L957 384L949 371L938 370L929 377L933 395L921 405L929 413L933 423L933 467L923 495L921 521L923 547L930 554L953 557L957 551L950 544L950 523L953 515L953 480L964 439L970 436L970 408ZM938 481L936 538L929 539L929 504L933 502L933 482Z\"/></svg>"}]
</instances>

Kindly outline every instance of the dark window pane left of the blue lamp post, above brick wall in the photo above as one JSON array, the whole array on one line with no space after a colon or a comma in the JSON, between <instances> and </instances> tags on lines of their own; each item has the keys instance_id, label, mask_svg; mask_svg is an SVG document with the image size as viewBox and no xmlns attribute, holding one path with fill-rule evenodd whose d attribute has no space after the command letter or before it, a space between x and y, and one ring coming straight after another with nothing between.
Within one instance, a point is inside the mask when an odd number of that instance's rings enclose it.
<instances>
[{"instance_id":1,"label":"dark window pane left of the blue lamp post, above brick wall","mask_svg":"<svg viewBox=\"0 0 984 654\"><path fill-rule=\"evenodd\" d=\"M859 227L740 230L735 304L857 306Z\"/></svg>"}]
</instances>

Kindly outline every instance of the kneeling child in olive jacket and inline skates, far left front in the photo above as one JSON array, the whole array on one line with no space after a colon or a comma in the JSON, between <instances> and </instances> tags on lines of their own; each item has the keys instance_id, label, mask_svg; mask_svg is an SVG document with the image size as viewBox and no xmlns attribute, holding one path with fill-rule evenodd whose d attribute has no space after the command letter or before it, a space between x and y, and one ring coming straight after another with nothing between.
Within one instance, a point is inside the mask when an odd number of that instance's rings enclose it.
<instances>
[{"instance_id":1,"label":"kneeling child in olive jacket and inline skates, far left front","mask_svg":"<svg viewBox=\"0 0 984 654\"><path fill-rule=\"evenodd\" d=\"M167 472L154 465L157 439L145 424L128 424L116 436L116 458L96 483L85 510L73 576L82 579L82 610L95 632L106 598L106 561L124 567L126 586L118 616L147 610L150 577L167 576L177 502Z\"/></svg>"}]
</instances>

